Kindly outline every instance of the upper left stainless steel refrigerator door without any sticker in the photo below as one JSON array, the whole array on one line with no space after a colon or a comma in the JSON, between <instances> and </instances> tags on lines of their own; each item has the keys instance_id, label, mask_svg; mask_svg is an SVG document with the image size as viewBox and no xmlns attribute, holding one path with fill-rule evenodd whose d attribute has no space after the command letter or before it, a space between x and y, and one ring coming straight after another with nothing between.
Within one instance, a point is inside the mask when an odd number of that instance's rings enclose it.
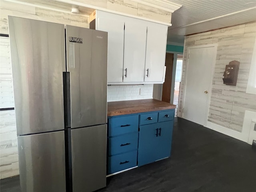
<instances>
[{"instance_id":1,"label":"upper left stainless steel refrigerator door without any sticker","mask_svg":"<svg viewBox=\"0 0 256 192\"><path fill-rule=\"evenodd\" d=\"M64 25L8 17L17 134L64 129Z\"/></svg>"}]
</instances>

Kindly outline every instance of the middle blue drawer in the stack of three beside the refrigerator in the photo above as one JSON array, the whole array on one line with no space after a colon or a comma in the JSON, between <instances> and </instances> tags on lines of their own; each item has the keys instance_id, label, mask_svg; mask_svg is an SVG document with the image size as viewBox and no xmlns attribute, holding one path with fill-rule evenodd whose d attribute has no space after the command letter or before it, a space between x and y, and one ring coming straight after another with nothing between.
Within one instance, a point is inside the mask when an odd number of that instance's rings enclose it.
<instances>
[{"instance_id":1,"label":"middle blue drawer in the stack of three beside the refrigerator","mask_svg":"<svg viewBox=\"0 0 256 192\"><path fill-rule=\"evenodd\" d=\"M108 144L108 154L109 156L125 153L132 150L137 150L138 148L138 132L125 134L118 137L113 137L109 139Z\"/></svg>"}]
</instances>

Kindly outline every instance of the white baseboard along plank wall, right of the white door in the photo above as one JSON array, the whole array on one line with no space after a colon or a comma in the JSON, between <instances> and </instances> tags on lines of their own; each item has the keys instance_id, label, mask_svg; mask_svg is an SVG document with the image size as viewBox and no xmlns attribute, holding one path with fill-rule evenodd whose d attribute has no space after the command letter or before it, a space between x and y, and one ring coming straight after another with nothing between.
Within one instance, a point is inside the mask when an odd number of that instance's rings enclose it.
<instances>
[{"instance_id":1,"label":"white baseboard along plank wall, right of the white door","mask_svg":"<svg viewBox=\"0 0 256 192\"><path fill-rule=\"evenodd\" d=\"M214 124L212 122L207 122L206 123L206 128L212 129L214 131L220 132L222 134L228 135L230 137L236 138L238 140L241 140L243 142L248 142L248 133L247 132L238 132L217 124Z\"/></svg>"}]
</instances>

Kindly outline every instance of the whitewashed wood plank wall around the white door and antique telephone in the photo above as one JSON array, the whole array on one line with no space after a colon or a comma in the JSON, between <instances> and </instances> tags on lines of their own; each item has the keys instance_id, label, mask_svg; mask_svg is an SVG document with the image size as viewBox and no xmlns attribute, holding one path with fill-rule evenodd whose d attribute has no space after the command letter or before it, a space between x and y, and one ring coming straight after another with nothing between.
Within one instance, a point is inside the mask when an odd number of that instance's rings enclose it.
<instances>
[{"instance_id":1,"label":"whitewashed wood plank wall around the white door and antique telephone","mask_svg":"<svg viewBox=\"0 0 256 192\"><path fill-rule=\"evenodd\" d=\"M242 132L245 110L256 112L256 95L246 93L255 37L256 22L186 36L178 113L182 112L188 47L218 44L208 121ZM238 80L236 86L227 86L222 77L232 60L240 62Z\"/></svg>"}]
</instances>

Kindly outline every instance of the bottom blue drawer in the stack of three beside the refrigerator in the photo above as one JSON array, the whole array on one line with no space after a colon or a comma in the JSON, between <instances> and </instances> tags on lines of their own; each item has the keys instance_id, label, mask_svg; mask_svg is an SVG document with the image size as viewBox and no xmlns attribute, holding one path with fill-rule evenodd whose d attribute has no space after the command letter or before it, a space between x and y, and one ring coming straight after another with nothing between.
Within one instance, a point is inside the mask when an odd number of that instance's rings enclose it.
<instances>
[{"instance_id":1,"label":"bottom blue drawer in the stack of three beside the refrigerator","mask_svg":"<svg viewBox=\"0 0 256 192\"><path fill-rule=\"evenodd\" d=\"M137 166L137 151L108 158L108 174Z\"/></svg>"}]
</instances>

